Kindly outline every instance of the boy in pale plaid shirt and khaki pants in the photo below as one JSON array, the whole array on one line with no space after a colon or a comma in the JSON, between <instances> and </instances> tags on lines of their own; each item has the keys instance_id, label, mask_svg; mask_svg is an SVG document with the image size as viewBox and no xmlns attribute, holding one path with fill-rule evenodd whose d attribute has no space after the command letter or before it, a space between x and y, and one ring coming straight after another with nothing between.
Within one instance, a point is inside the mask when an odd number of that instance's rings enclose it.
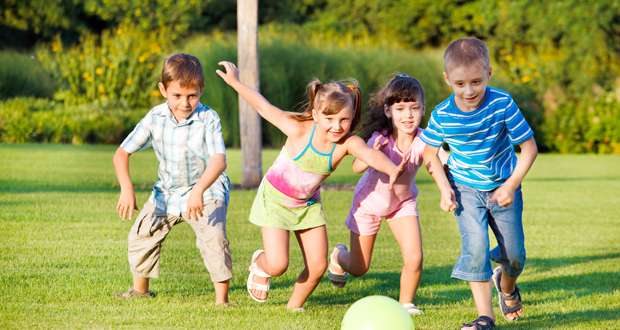
<instances>
[{"instance_id":1,"label":"boy in pale plaid shirt and khaki pants","mask_svg":"<svg viewBox=\"0 0 620 330\"><path fill-rule=\"evenodd\" d=\"M211 275L215 304L228 305L232 260L226 236L230 180L220 117L200 103L205 88L200 61L187 54L168 56L159 83L167 99L138 123L114 154L121 186L116 211L131 220L136 195L129 177L129 156L153 147L159 161L158 181L129 232L129 268L133 287L123 298L151 297L149 279L159 277L159 256L170 229L187 222Z\"/></svg>"}]
</instances>

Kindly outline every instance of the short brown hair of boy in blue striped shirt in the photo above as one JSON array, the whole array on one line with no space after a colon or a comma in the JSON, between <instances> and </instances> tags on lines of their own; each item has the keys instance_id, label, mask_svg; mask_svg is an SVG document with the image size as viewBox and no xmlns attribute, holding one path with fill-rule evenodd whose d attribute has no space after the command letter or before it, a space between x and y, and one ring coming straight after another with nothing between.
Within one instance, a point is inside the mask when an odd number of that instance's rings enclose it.
<instances>
[{"instance_id":1,"label":"short brown hair of boy in blue striped shirt","mask_svg":"<svg viewBox=\"0 0 620 330\"><path fill-rule=\"evenodd\" d=\"M446 52L443 54L443 66L448 74L452 69L473 65L483 70L491 67L489 49L479 39L457 39L446 48Z\"/></svg>"}]
</instances>

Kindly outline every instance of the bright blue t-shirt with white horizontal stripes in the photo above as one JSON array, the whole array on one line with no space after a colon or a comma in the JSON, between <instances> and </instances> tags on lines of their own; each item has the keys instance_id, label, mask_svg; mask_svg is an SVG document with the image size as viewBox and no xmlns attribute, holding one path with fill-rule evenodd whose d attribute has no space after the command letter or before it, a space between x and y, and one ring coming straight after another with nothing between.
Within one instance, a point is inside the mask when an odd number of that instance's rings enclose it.
<instances>
[{"instance_id":1,"label":"bright blue t-shirt with white horizontal stripes","mask_svg":"<svg viewBox=\"0 0 620 330\"><path fill-rule=\"evenodd\" d=\"M487 87L482 105L463 112L454 104L454 94L433 111L420 138L426 144L450 146L448 159L454 181L480 190L502 185L512 174L517 156L512 145L534 135L510 95Z\"/></svg>"}]
</instances>

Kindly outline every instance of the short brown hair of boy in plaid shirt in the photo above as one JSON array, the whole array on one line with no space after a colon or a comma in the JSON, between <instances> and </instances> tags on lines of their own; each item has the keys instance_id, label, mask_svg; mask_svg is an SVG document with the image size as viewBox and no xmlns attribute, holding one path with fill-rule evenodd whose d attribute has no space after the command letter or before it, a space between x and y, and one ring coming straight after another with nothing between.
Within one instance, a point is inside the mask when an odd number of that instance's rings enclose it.
<instances>
[{"instance_id":1,"label":"short brown hair of boy in plaid shirt","mask_svg":"<svg viewBox=\"0 0 620 330\"><path fill-rule=\"evenodd\" d=\"M161 70L161 83L164 88L168 88L168 84L173 81L178 81L181 87L202 88L205 84L205 73L200 61L188 54L168 56Z\"/></svg>"}]
</instances>

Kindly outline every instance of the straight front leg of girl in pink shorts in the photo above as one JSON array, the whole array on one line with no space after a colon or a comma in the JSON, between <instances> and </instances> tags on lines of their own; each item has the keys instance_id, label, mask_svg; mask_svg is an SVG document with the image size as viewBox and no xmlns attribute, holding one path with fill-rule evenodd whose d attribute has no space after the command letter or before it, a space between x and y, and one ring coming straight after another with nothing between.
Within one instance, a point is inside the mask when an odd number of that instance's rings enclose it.
<instances>
[{"instance_id":1,"label":"straight front leg of girl in pink shorts","mask_svg":"<svg viewBox=\"0 0 620 330\"><path fill-rule=\"evenodd\" d=\"M418 217L402 217L388 221L394 238L400 245L403 257L403 271L400 275L400 296L398 302L408 304L420 285L422 278L422 235Z\"/></svg>"}]
</instances>

